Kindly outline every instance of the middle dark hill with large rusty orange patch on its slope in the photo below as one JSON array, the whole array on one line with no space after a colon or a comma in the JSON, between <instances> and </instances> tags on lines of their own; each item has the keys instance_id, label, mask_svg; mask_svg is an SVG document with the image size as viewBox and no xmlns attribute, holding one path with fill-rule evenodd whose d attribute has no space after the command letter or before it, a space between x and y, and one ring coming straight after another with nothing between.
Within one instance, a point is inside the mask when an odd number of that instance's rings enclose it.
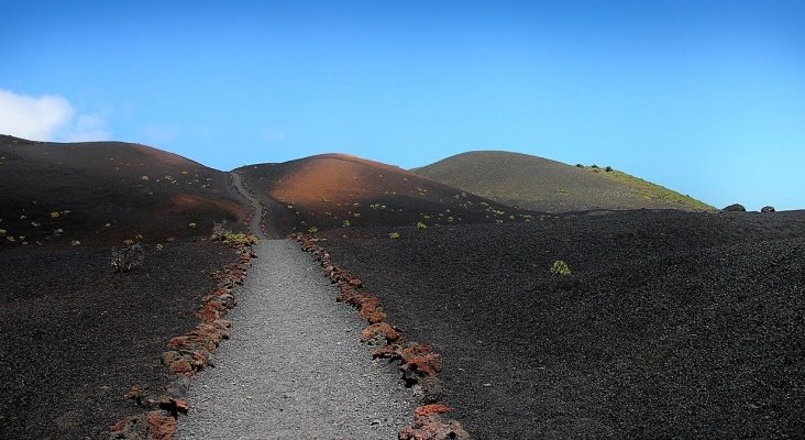
<instances>
[{"instance_id":1,"label":"middle dark hill with large rusty orange patch on its slope","mask_svg":"<svg viewBox=\"0 0 805 440\"><path fill-rule=\"evenodd\" d=\"M533 216L393 165L343 154L238 168L286 234L365 226L523 222Z\"/></svg>"}]
</instances>

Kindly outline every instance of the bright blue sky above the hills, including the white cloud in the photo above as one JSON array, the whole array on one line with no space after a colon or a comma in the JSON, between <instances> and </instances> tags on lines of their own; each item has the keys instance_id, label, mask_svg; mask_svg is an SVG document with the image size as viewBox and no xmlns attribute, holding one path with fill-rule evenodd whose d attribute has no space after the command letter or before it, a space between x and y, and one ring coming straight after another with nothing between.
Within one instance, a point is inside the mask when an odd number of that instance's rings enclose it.
<instances>
[{"instance_id":1,"label":"bright blue sky above the hills, including the white cloud","mask_svg":"<svg viewBox=\"0 0 805 440\"><path fill-rule=\"evenodd\" d=\"M0 0L0 133L219 169L470 150L805 208L805 1Z\"/></svg>"}]
</instances>

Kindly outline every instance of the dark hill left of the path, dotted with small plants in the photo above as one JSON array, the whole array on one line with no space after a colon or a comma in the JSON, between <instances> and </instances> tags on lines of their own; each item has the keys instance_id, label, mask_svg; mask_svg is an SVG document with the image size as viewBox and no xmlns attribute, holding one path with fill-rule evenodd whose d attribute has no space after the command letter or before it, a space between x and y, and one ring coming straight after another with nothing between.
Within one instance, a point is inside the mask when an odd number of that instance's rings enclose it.
<instances>
[{"instance_id":1,"label":"dark hill left of the path, dotted with small plants","mask_svg":"<svg viewBox=\"0 0 805 440\"><path fill-rule=\"evenodd\" d=\"M244 216L228 173L175 154L0 136L0 246L203 235Z\"/></svg>"}]
</instances>

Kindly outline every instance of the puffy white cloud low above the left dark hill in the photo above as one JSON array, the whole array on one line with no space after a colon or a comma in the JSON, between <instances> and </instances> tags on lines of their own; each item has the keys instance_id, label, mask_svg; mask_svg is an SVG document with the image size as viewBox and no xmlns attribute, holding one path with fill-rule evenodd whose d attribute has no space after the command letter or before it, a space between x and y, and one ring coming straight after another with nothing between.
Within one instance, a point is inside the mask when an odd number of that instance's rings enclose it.
<instances>
[{"instance_id":1,"label":"puffy white cloud low above the left dark hill","mask_svg":"<svg viewBox=\"0 0 805 440\"><path fill-rule=\"evenodd\" d=\"M0 133L34 141L104 141L106 121L79 114L58 95L31 97L0 89Z\"/></svg>"}]
</instances>

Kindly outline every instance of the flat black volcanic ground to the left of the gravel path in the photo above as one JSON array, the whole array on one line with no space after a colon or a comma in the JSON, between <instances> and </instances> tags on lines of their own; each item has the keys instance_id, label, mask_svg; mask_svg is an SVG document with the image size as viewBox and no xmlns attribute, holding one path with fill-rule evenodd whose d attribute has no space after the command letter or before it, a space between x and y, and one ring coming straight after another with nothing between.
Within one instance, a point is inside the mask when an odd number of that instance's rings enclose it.
<instances>
[{"instance_id":1,"label":"flat black volcanic ground to the left of the gravel path","mask_svg":"<svg viewBox=\"0 0 805 440\"><path fill-rule=\"evenodd\" d=\"M209 241L146 245L142 266L115 274L110 246L0 252L0 439L106 438L140 413L133 385L163 392L170 338L199 322L211 271L236 256Z\"/></svg>"}]
</instances>

